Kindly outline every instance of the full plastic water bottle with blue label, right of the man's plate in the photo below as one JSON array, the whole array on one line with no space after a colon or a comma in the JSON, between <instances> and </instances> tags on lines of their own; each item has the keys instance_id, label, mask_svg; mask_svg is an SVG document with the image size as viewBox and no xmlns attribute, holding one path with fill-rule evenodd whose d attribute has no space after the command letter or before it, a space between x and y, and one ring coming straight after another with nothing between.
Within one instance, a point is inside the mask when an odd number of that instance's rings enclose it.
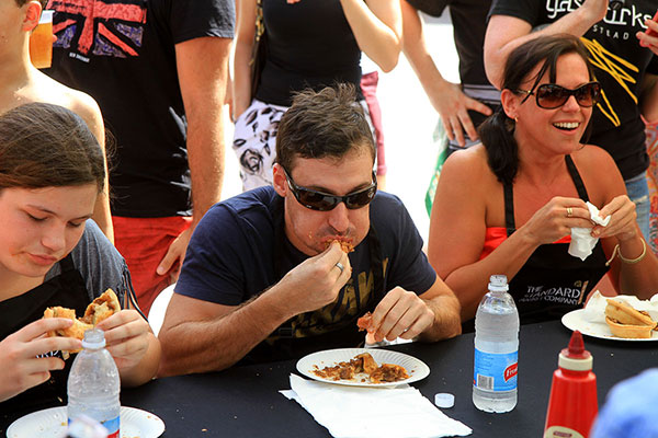
<instances>
[{"instance_id":1,"label":"full plastic water bottle with blue label, right of the man's plate","mask_svg":"<svg viewBox=\"0 0 658 438\"><path fill-rule=\"evenodd\" d=\"M504 275L492 275L475 315L473 404L485 412L517 405L519 312Z\"/></svg>"}]
</instances>

